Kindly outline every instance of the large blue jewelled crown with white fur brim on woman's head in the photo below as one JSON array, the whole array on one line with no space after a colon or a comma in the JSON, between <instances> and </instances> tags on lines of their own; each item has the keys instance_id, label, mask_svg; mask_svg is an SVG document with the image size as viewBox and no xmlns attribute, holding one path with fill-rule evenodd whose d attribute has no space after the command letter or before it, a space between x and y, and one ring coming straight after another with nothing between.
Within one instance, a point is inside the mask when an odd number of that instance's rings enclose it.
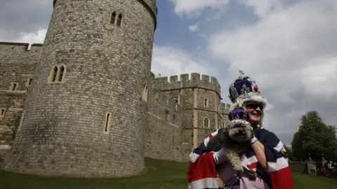
<instances>
[{"instance_id":1,"label":"large blue jewelled crown with white fur brim on woman's head","mask_svg":"<svg viewBox=\"0 0 337 189\"><path fill-rule=\"evenodd\" d=\"M239 78L229 87L229 97L232 103L234 103L231 108L241 107L245 102L258 102L265 108L267 106L267 99L260 95L256 81L249 76L244 76L244 71L242 70L239 70L239 73Z\"/></svg>"}]
</instances>

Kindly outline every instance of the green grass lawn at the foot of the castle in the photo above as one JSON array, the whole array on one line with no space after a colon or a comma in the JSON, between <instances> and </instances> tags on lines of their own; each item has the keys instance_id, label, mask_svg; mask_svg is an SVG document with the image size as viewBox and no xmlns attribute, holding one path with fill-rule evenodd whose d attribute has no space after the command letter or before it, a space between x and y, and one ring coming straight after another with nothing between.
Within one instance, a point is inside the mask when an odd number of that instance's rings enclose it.
<instances>
[{"instance_id":1,"label":"green grass lawn at the foot of the castle","mask_svg":"<svg viewBox=\"0 0 337 189\"><path fill-rule=\"evenodd\" d=\"M127 179L46 178L0 171L1 189L186 189L187 163L146 159L148 171ZM337 181L321 176L294 174L297 189L337 189Z\"/></svg>"}]
</instances>

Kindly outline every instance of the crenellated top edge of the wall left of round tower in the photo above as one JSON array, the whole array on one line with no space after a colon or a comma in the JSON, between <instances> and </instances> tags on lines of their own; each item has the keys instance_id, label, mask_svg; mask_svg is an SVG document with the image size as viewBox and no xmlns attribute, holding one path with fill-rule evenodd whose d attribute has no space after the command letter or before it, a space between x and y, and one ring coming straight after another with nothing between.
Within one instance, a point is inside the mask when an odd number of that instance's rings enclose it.
<instances>
[{"instance_id":1,"label":"crenellated top edge of the wall left of round tower","mask_svg":"<svg viewBox=\"0 0 337 189\"><path fill-rule=\"evenodd\" d=\"M1 42L0 41L0 50L11 50L11 51L29 51L35 49L42 49L43 44L34 43L29 45L29 43L15 43L15 42Z\"/></svg>"}]
</instances>

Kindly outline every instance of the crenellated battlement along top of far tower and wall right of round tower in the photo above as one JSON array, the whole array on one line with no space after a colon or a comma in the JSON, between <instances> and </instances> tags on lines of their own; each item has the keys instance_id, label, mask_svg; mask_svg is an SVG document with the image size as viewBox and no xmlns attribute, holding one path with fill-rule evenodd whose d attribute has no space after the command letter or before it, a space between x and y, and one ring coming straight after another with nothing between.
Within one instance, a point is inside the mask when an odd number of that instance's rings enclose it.
<instances>
[{"instance_id":1,"label":"crenellated battlement along top of far tower and wall right of round tower","mask_svg":"<svg viewBox=\"0 0 337 189\"><path fill-rule=\"evenodd\" d=\"M160 90L178 90L186 87L201 87L214 90L220 95L220 84L213 76L200 73L183 73L178 76L154 78L154 85Z\"/></svg>"}]
</instances>

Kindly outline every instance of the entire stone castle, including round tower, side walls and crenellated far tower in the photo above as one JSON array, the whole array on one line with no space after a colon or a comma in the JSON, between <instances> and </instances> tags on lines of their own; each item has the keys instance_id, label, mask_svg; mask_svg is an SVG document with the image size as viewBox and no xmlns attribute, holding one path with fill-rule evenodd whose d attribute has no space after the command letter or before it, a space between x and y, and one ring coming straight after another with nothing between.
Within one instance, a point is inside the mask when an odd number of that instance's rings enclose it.
<instances>
[{"instance_id":1,"label":"entire stone castle, including round tower, side walls and crenellated far tower","mask_svg":"<svg viewBox=\"0 0 337 189\"><path fill-rule=\"evenodd\" d=\"M227 123L216 78L155 78L155 0L57 0L44 44L0 42L2 169L121 177Z\"/></svg>"}]
</instances>

